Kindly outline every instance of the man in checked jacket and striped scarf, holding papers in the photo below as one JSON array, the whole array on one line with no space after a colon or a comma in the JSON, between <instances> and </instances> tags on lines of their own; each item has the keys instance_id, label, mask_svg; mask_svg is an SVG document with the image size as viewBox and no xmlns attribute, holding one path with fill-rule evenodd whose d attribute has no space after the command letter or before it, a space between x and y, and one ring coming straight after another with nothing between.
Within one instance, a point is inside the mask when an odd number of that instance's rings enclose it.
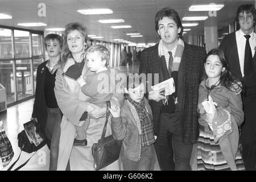
<instances>
[{"instance_id":1,"label":"man in checked jacket and striped scarf, holding papers","mask_svg":"<svg viewBox=\"0 0 256 182\"><path fill-rule=\"evenodd\" d=\"M154 134L158 136L156 155L162 170L191 170L192 148L199 133L197 100L206 52L183 42L180 17L170 7L156 13L155 29L160 42L142 51L139 72L151 73L152 85L157 84L154 73L159 75L159 82L172 77L176 90L168 96L168 105L163 104L162 90L147 90Z\"/></svg>"}]
</instances>

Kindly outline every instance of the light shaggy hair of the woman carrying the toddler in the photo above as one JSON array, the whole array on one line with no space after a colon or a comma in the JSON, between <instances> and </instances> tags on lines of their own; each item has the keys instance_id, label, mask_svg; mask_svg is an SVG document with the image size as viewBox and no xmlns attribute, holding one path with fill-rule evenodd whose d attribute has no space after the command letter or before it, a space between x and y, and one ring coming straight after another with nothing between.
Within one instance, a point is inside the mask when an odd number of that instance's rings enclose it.
<instances>
[{"instance_id":1,"label":"light shaggy hair of the woman carrying the toddler","mask_svg":"<svg viewBox=\"0 0 256 182\"><path fill-rule=\"evenodd\" d=\"M67 62L68 58L72 56L71 51L69 51L68 44L67 44L67 36L70 32L77 30L79 31L82 36L84 36L84 42L86 43L85 49L90 46L89 38L87 35L87 29L84 27L82 23L69 23L65 26L65 31L63 34L64 40L63 40L63 51L61 54L61 68L64 67L65 63ZM84 52L85 53L85 52ZM81 56L84 56L84 53L82 53Z\"/></svg>"}]
</instances>

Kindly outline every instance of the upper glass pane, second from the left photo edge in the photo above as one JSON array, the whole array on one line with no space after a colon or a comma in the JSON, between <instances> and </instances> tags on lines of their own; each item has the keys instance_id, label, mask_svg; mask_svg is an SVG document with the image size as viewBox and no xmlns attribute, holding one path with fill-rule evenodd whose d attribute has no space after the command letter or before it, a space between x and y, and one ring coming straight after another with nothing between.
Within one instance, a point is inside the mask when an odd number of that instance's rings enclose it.
<instances>
[{"instance_id":1,"label":"upper glass pane, second from the left photo edge","mask_svg":"<svg viewBox=\"0 0 256 182\"><path fill-rule=\"evenodd\" d=\"M30 57L30 33L14 30L15 57Z\"/></svg>"}]
</instances>

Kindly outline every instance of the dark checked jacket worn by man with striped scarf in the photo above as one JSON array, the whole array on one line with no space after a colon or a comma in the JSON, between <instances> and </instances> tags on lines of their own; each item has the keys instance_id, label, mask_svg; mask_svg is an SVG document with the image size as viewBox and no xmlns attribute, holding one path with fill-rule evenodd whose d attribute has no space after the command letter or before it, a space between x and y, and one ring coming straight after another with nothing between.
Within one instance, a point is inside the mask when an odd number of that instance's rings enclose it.
<instances>
[{"instance_id":1,"label":"dark checked jacket worn by man with striped scarf","mask_svg":"<svg viewBox=\"0 0 256 182\"><path fill-rule=\"evenodd\" d=\"M200 80L204 73L203 60L205 57L204 48L184 43L178 73L177 101L181 111L180 125L183 143L185 144L196 143L199 134L197 100ZM154 73L160 72L159 63L158 44L142 51L139 73L153 73L152 85L154 85ZM162 81L159 80L159 82ZM153 114L154 134L158 135L163 102L162 100L159 102L149 100L149 104Z\"/></svg>"}]
</instances>

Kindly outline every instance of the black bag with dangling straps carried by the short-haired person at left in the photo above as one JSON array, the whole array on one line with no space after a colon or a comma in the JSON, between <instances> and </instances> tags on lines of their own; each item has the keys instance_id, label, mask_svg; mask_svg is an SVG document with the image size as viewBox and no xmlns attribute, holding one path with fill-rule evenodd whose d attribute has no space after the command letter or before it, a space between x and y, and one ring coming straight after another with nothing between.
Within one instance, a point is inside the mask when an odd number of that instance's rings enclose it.
<instances>
[{"instance_id":1,"label":"black bag with dangling straps carried by the short-haired person at left","mask_svg":"<svg viewBox=\"0 0 256 182\"><path fill-rule=\"evenodd\" d=\"M28 124L32 124L35 127L34 133L36 135L40 135L40 137L43 139L43 141L38 146L35 146L35 144L31 143L30 140L28 139L25 130L22 130L18 134L18 137L17 137L18 146L20 148L19 157L18 157L18 159L16 159L16 161L13 164L11 164L11 166L7 169L7 171L10 171L14 167L14 165L18 162L22 151L27 152L27 153L32 153L32 152L35 152L35 153L26 162L21 164L19 167L15 168L14 171L18 171L20 168L25 166L28 163L28 161L36 154L36 152L46 144L46 138L45 138L43 131L40 129L39 123L36 122L35 119L32 119L31 121L25 123L24 127L25 127L25 125L28 125Z\"/></svg>"}]
</instances>

